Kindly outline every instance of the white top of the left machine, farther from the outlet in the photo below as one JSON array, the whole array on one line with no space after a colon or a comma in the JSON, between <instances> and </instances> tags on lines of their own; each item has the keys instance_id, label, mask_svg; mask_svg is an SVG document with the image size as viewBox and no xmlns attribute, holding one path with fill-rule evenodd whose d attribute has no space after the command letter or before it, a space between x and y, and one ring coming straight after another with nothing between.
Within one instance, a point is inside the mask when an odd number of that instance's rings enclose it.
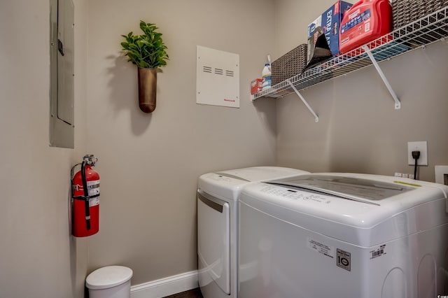
<instances>
[{"instance_id":1,"label":"white top of the left machine, farther from the outlet","mask_svg":"<svg viewBox=\"0 0 448 298\"><path fill-rule=\"evenodd\" d=\"M244 169L206 173L200 176L198 187L219 199L237 200L241 188L247 183L280 179L309 173L280 166L253 166Z\"/></svg>"}]
</instances>

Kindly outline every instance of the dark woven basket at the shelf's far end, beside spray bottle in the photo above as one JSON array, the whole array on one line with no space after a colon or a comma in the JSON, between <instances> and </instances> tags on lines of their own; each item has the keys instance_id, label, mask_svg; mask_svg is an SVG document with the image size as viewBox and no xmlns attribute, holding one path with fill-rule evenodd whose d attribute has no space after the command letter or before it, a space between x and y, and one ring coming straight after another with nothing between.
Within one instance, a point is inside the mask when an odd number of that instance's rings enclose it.
<instances>
[{"instance_id":1,"label":"dark woven basket at the shelf's far end, beside spray bottle","mask_svg":"<svg viewBox=\"0 0 448 298\"><path fill-rule=\"evenodd\" d=\"M272 85L302 73L307 66L307 44L299 45L271 64Z\"/></svg>"}]
</instances>

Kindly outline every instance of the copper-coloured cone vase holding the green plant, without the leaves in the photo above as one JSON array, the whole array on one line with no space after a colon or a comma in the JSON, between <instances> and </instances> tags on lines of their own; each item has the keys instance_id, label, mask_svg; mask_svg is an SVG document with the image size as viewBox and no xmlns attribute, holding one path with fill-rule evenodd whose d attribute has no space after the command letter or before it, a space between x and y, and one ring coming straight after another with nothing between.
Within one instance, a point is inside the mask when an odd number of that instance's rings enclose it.
<instances>
[{"instance_id":1,"label":"copper-coloured cone vase holding the green plant, without the leaves","mask_svg":"<svg viewBox=\"0 0 448 298\"><path fill-rule=\"evenodd\" d=\"M155 110L157 93L157 69L139 67L139 106L141 111L151 113Z\"/></svg>"}]
</instances>

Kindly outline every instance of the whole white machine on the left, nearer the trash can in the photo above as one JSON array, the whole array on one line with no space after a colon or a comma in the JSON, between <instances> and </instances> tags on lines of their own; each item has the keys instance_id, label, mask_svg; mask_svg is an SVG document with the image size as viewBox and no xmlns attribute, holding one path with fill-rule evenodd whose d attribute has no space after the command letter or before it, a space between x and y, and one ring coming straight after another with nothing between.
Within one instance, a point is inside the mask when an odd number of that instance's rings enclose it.
<instances>
[{"instance_id":1,"label":"whole white machine on the left, nearer the trash can","mask_svg":"<svg viewBox=\"0 0 448 298\"><path fill-rule=\"evenodd\" d=\"M244 185L309 173L276 166L207 173L197 189L197 257L204 298L237 297L237 199Z\"/></svg>"}]
</instances>

